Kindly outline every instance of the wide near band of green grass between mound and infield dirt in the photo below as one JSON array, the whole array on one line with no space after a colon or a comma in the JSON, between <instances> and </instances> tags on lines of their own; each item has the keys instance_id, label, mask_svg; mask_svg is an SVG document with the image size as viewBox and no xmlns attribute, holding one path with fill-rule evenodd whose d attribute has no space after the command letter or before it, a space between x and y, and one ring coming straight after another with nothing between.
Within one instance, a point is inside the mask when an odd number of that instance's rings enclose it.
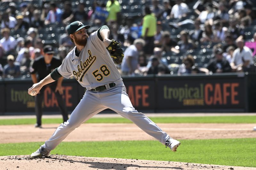
<instances>
[{"instance_id":1,"label":"wide near band of green grass between mound and infield dirt","mask_svg":"<svg viewBox=\"0 0 256 170\"><path fill-rule=\"evenodd\" d=\"M256 138L180 142L178 152L158 141L62 142L51 154L256 167ZM43 142L0 144L0 156L29 155L39 144Z\"/></svg>"}]
</instances>

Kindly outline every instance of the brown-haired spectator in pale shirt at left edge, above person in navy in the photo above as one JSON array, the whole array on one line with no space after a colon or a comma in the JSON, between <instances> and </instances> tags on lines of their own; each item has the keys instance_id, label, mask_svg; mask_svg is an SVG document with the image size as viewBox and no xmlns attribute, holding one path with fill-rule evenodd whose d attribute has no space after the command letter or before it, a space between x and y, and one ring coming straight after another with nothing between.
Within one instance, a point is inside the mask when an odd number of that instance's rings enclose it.
<instances>
[{"instance_id":1,"label":"brown-haired spectator in pale shirt at left edge, above person in navy","mask_svg":"<svg viewBox=\"0 0 256 170\"><path fill-rule=\"evenodd\" d=\"M10 29L3 28L1 30L1 35L3 38L0 40L0 44L2 44L4 48L4 54L14 53L16 47L16 40L12 36L10 36Z\"/></svg>"}]
</instances>

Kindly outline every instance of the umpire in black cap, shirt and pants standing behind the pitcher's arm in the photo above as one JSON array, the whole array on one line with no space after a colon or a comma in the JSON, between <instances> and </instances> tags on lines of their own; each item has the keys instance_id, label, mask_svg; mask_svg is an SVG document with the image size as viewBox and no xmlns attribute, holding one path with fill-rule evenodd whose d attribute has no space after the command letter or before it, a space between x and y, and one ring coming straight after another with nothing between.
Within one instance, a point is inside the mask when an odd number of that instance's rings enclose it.
<instances>
[{"instance_id":1,"label":"umpire in black cap, shirt and pants standing behind the pitcher's arm","mask_svg":"<svg viewBox=\"0 0 256 170\"><path fill-rule=\"evenodd\" d=\"M49 75L55 68L61 65L61 60L53 57L54 51L52 46L46 45L43 50L43 56L36 58L30 68L30 74L33 83L37 83ZM38 78L36 78L36 73ZM44 90L46 87L50 87L52 92L55 93L58 105L60 107L61 114L63 116L63 122L68 120L68 112L62 99L63 90L61 87L63 77L59 78L58 81L50 83L48 86L44 86L40 93L35 96L36 102L36 124L35 127L41 128L42 125L42 101L44 97Z\"/></svg>"}]
</instances>

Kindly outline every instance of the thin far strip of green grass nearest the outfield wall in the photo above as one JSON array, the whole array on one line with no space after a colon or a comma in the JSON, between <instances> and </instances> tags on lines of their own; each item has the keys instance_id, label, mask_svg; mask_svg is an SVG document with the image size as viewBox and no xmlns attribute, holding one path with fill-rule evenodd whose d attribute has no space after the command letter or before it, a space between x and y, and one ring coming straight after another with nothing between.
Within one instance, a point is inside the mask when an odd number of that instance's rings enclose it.
<instances>
[{"instance_id":1,"label":"thin far strip of green grass nearest the outfield wall","mask_svg":"<svg viewBox=\"0 0 256 170\"><path fill-rule=\"evenodd\" d=\"M256 116L150 117L155 123L256 123ZM36 119L0 119L0 125L34 124ZM61 123L61 118L42 119L43 124ZM132 123L125 118L91 118L87 123Z\"/></svg>"}]
</instances>

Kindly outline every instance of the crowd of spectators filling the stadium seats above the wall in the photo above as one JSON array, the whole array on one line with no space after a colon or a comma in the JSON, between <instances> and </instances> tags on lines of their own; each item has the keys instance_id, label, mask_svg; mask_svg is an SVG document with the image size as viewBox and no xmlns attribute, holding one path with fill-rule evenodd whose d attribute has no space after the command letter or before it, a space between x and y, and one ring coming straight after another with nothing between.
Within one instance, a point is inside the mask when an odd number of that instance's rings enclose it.
<instances>
[{"instance_id":1,"label":"crowd of spectators filling the stadium seats above the wall","mask_svg":"<svg viewBox=\"0 0 256 170\"><path fill-rule=\"evenodd\" d=\"M52 45L74 48L66 27L79 20L110 28L122 43L121 75L255 72L256 4L250 0L2 0L0 76L28 78Z\"/></svg>"}]
</instances>

